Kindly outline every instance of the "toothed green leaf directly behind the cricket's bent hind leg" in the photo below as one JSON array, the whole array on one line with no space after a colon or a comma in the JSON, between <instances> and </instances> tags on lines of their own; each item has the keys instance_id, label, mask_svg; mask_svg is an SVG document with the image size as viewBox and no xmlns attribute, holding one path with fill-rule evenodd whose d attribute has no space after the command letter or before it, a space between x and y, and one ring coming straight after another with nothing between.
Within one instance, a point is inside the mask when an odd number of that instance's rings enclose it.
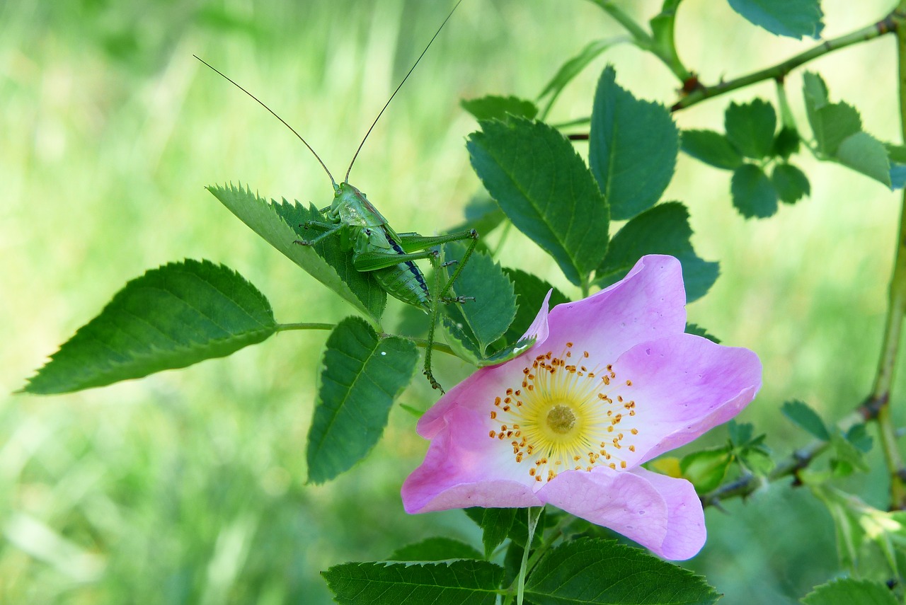
<instances>
[{"instance_id":1,"label":"toothed green leaf directly behind the cricket's bent hind leg","mask_svg":"<svg viewBox=\"0 0 906 605\"><path fill-rule=\"evenodd\" d=\"M465 253L466 246L458 242L444 245L447 260L462 258ZM447 274L456 269L456 264L449 266ZM453 284L452 295L475 298L461 304L449 303L445 311L452 321L462 324L462 329L475 341L479 355L484 358L488 345L503 336L516 317L513 283L490 256L476 251Z\"/></svg>"}]
</instances>

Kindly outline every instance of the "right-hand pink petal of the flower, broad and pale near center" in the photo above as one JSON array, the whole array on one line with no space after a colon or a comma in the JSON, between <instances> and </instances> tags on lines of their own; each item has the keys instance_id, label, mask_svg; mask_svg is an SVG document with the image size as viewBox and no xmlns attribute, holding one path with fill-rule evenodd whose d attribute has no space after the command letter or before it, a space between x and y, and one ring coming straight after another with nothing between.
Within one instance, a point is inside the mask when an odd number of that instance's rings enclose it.
<instances>
[{"instance_id":1,"label":"right-hand pink petal of the flower, broad and pale near center","mask_svg":"<svg viewBox=\"0 0 906 605\"><path fill-rule=\"evenodd\" d=\"M692 334L644 342L613 364L621 382L612 397L635 401L627 427L639 465L683 446L735 417L761 388L761 362L747 349L726 347ZM631 379L631 386L622 380Z\"/></svg>"}]
</instances>

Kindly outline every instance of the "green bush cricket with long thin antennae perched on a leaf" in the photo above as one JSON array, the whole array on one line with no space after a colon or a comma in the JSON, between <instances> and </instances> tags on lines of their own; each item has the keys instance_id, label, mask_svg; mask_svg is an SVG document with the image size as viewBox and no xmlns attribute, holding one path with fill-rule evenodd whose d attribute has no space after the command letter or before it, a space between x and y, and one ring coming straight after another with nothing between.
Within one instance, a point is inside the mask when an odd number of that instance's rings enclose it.
<instances>
[{"instance_id":1,"label":"green bush cricket with long thin antennae perched on a leaf","mask_svg":"<svg viewBox=\"0 0 906 605\"><path fill-rule=\"evenodd\" d=\"M461 2L461 0L459 1ZM453 10L450 11L443 23L440 24L438 31L431 37L428 45L425 46L424 50L419 54L419 58L413 63L409 72L406 73L396 90L390 95L390 99L388 99L378 113L377 118L371 123L368 132L366 132L364 138L361 139L359 148L356 149L355 154L352 156L352 161L349 164L349 168L346 170L345 178L343 178L342 183L339 185L323 160L302 135L300 135L283 118L277 115L274 110L271 110L265 105L263 101L260 101L255 97L254 94L246 91L245 88L231 80L226 74L220 72L196 55L198 61L205 63L207 67L217 72L228 82L235 85L239 90L245 92L264 107L265 110L268 110L274 115L277 120L280 120L286 128L291 130L293 134L304 143L305 147L312 152L314 158L321 164L321 167L324 169L324 172L327 173L328 178L331 179L331 183L333 184L333 202L330 206L323 207L320 210L323 221L308 221L301 225L306 230L317 232L316 235L311 239L296 240L294 243L298 245L314 245L326 237L341 237L343 247L348 249L349 253L352 254L352 264L356 271L371 272L377 283L379 283L381 288L386 293L390 294L390 296L393 296L403 303L419 307L419 309L429 313L430 323L428 341L425 349L423 373L428 378L431 387L439 389L441 392L443 392L443 388L438 381L434 379L434 375L431 372L431 350L434 344L434 330L438 322L439 303L465 303L468 300L475 300L473 297L468 296L450 297L448 296L448 293L450 293L453 284L456 283L459 274L462 273L463 268L466 266L469 256L475 250L478 241L477 231L475 229L468 229L466 231L437 236L425 236L410 232L398 234L387 222L387 219L384 218L378 209L371 204L367 197L365 197L365 194L362 193L358 187L354 187L349 183L349 175L352 171L355 159L359 156L359 151L361 151L362 146L365 144L365 140L367 140L368 136L371 134L371 130L374 129L378 120L381 119L381 115L390 105L390 101L393 101L393 97L396 96L397 92L402 88L402 85L409 79L410 74L415 70L419 61L421 61L421 58L428 52L431 43L438 37L440 30L447 24L450 16L456 11L458 5L459 2L453 7ZM441 274L443 273L441 268L457 262L451 261L449 263L441 263L439 260L439 246L448 242L463 240L470 240L466 252L463 254L462 258L459 259L456 271L450 275L447 282L441 287ZM428 283L425 280L424 274L422 274L419 266L415 264L415 261L421 259L428 259L434 269L435 283L433 290L436 294L433 296Z\"/></svg>"}]
</instances>

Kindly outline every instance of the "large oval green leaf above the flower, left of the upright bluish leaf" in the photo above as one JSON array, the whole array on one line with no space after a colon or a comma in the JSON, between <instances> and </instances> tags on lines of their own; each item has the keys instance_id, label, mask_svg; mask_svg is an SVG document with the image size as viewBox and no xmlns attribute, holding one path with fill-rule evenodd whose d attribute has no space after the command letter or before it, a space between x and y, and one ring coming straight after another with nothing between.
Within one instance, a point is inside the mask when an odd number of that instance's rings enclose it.
<instances>
[{"instance_id":1,"label":"large oval green leaf above the flower, left of the upright bluish leaf","mask_svg":"<svg viewBox=\"0 0 906 605\"><path fill-rule=\"evenodd\" d=\"M607 252L607 201L564 136L527 120L486 121L469 135L472 167L517 229L583 283Z\"/></svg>"}]
</instances>

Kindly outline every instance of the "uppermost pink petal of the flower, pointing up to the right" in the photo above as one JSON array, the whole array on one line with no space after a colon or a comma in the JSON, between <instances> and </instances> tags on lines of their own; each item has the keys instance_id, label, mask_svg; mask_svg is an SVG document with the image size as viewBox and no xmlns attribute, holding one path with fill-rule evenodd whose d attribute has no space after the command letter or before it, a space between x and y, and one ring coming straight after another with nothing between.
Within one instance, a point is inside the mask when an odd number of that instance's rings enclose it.
<instances>
[{"instance_id":1,"label":"uppermost pink petal of the flower, pointing up to the right","mask_svg":"<svg viewBox=\"0 0 906 605\"><path fill-rule=\"evenodd\" d=\"M639 342L686 329L682 267L672 256L642 256L620 282L575 303L558 304L549 316L545 351L566 342L611 363Z\"/></svg>"}]
</instances>

